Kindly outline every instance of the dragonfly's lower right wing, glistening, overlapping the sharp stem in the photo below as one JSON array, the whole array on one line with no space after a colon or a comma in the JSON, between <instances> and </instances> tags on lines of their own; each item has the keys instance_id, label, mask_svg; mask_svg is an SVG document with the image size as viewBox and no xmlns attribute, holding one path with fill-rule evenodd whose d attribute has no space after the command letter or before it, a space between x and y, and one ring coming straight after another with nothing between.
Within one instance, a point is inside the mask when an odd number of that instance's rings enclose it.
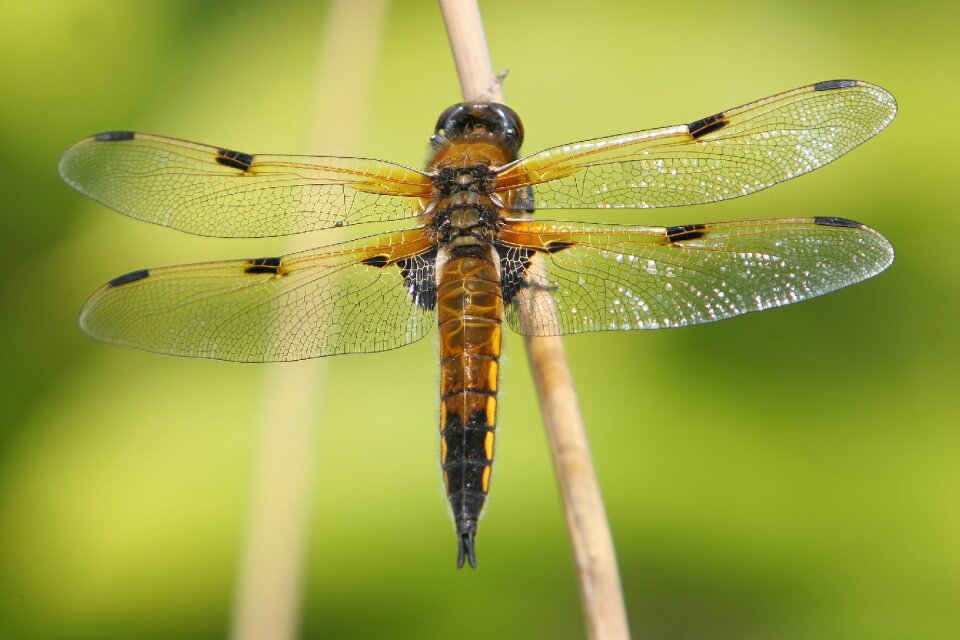
<instances>
[{"instance_id":1,"label":"dragonfly's lower right wing, glistening, overlapping the sharp stem","mask_svg":"<svg viewBox=\"0 0 960 640\"><path fill-rule=\"evenodd\" d=\"M843 218L678 227L518 221L501 238L504 273L526 274L507 321L537 336L713 322L860 282L893 261L883 236Z\"/></svg>"}]
</instances>

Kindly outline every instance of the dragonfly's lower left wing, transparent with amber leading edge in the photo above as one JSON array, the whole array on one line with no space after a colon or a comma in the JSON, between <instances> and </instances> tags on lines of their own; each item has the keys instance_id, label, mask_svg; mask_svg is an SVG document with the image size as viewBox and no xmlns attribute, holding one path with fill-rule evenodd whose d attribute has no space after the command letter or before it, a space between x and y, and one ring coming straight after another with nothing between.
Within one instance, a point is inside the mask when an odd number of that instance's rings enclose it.
<instances>
[{"instance_id":1,"label":"dragonfly's lower left wing, transparent with amber leading edge","mask_svg":"<svg viewBox=\"0 0 960 640\"><path fill-rule=\"evenodd\" d=\"M436 323L422 229L279 258L134 271L91 296L80 326L148 351L240 362L385 351Z\"/></svg>"}]
</instances>

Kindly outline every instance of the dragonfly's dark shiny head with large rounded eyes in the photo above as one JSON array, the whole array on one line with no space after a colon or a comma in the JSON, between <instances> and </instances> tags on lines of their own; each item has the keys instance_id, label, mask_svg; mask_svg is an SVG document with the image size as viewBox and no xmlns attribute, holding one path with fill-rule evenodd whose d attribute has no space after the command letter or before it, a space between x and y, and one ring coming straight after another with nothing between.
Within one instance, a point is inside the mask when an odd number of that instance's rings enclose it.
<instances>
[{"instance_id":1,"label":"dragonfly's dark shiny head with large rounded eyes","mask_svg":"<svg viewBox=\"0 0 960 640\"><path fill-rule=\"evenodd\" d=\"M430 144L439 149L448 142L484 138L506 145L515 155L523 144L520 116L497 102L461 102L440 114Z\"/></svg>"}]
</instances>

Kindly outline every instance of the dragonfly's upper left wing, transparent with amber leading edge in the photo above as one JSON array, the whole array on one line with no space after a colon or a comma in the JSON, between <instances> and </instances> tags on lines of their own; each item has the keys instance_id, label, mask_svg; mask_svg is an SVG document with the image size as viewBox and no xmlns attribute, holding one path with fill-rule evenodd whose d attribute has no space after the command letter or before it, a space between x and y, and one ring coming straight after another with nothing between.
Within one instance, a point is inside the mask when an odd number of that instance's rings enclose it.
<instances>
[{"instance_id":1,"label":"dragonfly's upper left wing, transparent with amber leading edge","mask_svg":"<svg viewBox=\"0 0 960 640\"><path fill-rule=\"evenodd\" d=\"M139 220L224 238L410 218L433 188L428 175L382 160L252 155L126 131L81 140L60 175Z\"/></svg>"}]
</instances>

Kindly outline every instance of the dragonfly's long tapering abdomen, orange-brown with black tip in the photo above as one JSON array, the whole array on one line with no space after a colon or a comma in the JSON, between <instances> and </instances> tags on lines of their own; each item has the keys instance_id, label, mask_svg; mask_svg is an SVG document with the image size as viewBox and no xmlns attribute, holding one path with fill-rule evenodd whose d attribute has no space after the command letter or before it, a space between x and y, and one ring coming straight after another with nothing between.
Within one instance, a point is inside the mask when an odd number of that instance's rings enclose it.
<instances>
[{"instance_id":1,"label":"dragonfly's long tapering abdomen, orange-brown with black tip","mask_svg":"<svg viewBox=\"0 0 960 640\"><path fill-rule=\"evenodd\" d=\"M473 540L490 487L503 299L490 247L451 250L437 286L440 462L460 538L458 566L476 566ZM480 251L482 249L482 251Z\"/></svg>"}]
</instances>

